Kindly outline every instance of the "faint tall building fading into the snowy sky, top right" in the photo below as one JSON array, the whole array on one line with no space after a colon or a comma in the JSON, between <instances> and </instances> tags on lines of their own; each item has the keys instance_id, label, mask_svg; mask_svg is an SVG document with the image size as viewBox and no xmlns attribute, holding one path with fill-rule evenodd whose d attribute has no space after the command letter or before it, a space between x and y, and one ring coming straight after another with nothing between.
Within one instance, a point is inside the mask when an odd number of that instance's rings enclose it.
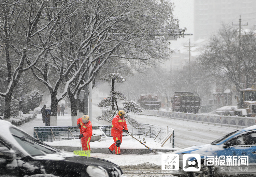
<instances>
[{"instance_id":1,"label":"faint tall building fading into the snowy sky, top right","mask_svg":"<svg viewBox=\"0 0 256 177\"><path fill-rule=\"evenodd\" d=\"M194 0L194 41L216 34L224 24L252 29L256 25L256 0ZM236 26L239 27L239 26Z\"/></svg>"}]
</instances>

